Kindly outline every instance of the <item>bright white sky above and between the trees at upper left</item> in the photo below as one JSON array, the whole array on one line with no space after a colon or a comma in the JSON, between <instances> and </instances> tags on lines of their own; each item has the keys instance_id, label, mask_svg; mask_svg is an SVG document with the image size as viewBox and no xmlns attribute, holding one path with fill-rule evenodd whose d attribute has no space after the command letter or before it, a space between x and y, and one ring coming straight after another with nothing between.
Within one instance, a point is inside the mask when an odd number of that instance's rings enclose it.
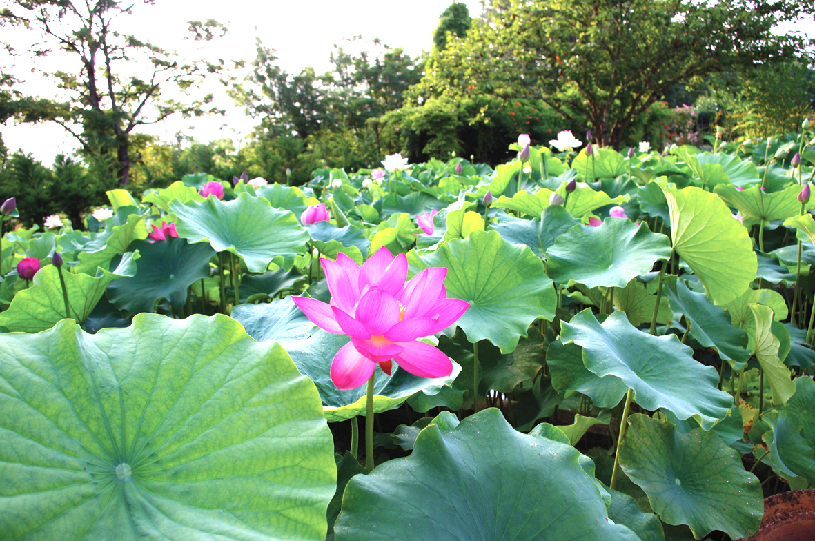
<instances>
[{"instance_id":1,"label":"bright white sky above and between the trees at upper left","mask_svg":"<svg viewBox=\"0 0 815 541\"><path fill-rule=\"evenodd\" d=\"M420 54L423 49L429 51L433 46L438 16L451 3L452 0L412 0L409 3L381 0L156 0L152 6L135 6L131 16L122 16L121 30L166 50L178 51L187 59L223 58L227 64L231 64L229 60L253 60L256 56L255 37L260 37L265 46L275 49L280 66L289 73L300 73L302 68L313 66L319 74L331 68L328 56L333 45L342 45L344 38L356 34L361 34L366 41L379 37L391 47L403 47L411 56ZM464 0L464 3L469 7L470 16L481 13L480 0ZM7 4L8 0L0 0L0 8ZM184 42L182 38L187 35L188 20L207 19L228 24L230 33L216 39L201 55L196 51L197 44ZM4 34L2 41L11 42L20 53L15 59L0 55L3 70L32 81L30 85L17 88L42 97L54 97L55 87L31 73L33 65L39 65L37 63L43 60L40 58L34 63L27 54L27 47L35 39L33 33L8 27L0 28L0 32ZM349 48L346 46L346 50ZM55 69L81 68L81 64L66 64L67 61L57 55L46 58L51 66L57 66ZM216 104L227 109L226 117L185 120L177 115L160 125L146 126L143 132L172 141L174 134L182 131L203 143L225 137L240 139L248 134L254 121L245 117L243 109L234 107L218 84L217 76L212 77L211 83L209 91L215 95ZM17 149L30 152L45 165L51 165L56 154L70 153L77 147L76 140L53 122L14 125L7 121L5 125L0 124L0 134L11 152Z\"/></svg>"}]
</instances>

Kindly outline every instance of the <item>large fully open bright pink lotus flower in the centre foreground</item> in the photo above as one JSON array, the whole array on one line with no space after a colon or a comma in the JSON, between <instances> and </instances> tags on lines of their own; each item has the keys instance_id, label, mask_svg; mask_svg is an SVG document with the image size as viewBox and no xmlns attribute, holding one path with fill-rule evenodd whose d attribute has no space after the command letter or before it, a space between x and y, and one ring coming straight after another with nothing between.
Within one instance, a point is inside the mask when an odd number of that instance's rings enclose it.
<instances>
[{"instance_id":1,"label":"large fully open bright pink lotus flower in the centre foreground","mask_svg":"<svg viewBox=\"0 0 815 541\"><path fill-rule=\"evenodd\" d=\"M417 340L449 327L469 308L466 301L447 298L447 269L431 267L405 282L407 257L394 257L385 248L361 267L344 253L336 262L319 261L331 292L329 304L309 297L292 300L319 328L350 336L331 363L337 389L363 385L377 364L390 375L392 361L416 376L451 374L447 355Z\"/></svg>"}]
</instances>

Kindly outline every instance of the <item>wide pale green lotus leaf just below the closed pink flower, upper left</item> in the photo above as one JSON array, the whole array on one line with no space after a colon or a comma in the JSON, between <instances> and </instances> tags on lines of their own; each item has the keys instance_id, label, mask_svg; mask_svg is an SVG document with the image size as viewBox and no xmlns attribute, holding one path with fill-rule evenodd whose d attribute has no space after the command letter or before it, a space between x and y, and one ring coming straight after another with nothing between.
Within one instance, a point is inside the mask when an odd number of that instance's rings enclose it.
<instances>
[{"instance_id":1,"label":"wide pale green lotus leaf just below the closed pink flower, upper left","mask_svg":"<svg viewBox=\"0 0 815 541\"><path fill-rule=\"evenodd\" d=\"M292 260L308 240L293 213L273 209L267 200L246 192L229 202L215 197L186 205L171 201L170 209L178 216L179 236L243 257L249 272L266 271L275 257Z\"/></svg>"}]
</instances>

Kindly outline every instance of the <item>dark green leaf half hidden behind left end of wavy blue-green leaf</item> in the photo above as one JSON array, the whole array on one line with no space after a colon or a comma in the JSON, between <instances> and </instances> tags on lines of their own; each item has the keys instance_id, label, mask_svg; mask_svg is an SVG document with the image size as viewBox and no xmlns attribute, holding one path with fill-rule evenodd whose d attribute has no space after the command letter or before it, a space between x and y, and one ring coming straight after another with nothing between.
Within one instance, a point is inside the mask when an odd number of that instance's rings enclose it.
<instances>
[{"instance_id":1,"label":"dark green leaf half hidden behind left end of wavy blue-green leaf","mask_svg":"<svg viewBox=\"0 0 815 541\"><path fill-rule=\"evenodd\" d=\"M615 407L628 391L628 385L619 377L601 377L588 370L583 363L583 348L579 345L552 342L546 350L546 363L554 389L585 394L597 407Z\"/></svg>"}]
</instances>

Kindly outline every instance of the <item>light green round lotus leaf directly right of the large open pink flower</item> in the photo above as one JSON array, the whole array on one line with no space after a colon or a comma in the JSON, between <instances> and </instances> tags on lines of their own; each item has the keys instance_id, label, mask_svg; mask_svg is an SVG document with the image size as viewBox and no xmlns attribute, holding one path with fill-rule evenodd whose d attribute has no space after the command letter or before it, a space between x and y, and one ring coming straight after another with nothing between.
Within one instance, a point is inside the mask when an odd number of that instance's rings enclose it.
<instances>
[{"instance_id":1,"label":"light green round lotus leaf directly right of the large open pink flower","mask_svg":"<svg viewBox=\"0 0 815 541\"><path fill-rule=\"evenodd\" d=\"M526 246L510 244L496 231L473 231L434 253L407 255L413 273L447 269L447 297L469 302L456 323L467 340L487 339L509 353L535 319L553 319L557 294L544 264Z\"/></svg>"}]
</instances>

